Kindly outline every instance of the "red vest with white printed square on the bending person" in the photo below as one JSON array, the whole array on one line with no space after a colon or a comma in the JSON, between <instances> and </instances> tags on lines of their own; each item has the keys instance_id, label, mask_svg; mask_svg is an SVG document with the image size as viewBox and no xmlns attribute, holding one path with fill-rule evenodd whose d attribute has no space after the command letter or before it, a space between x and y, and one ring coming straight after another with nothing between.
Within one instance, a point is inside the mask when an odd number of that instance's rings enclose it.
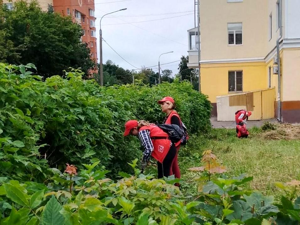
<instances>
[{"instance_id":1,"label":"red vest with white printed square on the bending person","mask_svg":"<svg viewBox=\"0 0 300 225\"><path fill-rule=\"evenodd\" d=\"M151 156L158 162L162 163L171 147L171 140L168 139L169 135L155 125L149 125L149 127L143 126L139 129L139 131L141 130L150 131L150 138L154 147Z\"/></svg>"}]
</instances>

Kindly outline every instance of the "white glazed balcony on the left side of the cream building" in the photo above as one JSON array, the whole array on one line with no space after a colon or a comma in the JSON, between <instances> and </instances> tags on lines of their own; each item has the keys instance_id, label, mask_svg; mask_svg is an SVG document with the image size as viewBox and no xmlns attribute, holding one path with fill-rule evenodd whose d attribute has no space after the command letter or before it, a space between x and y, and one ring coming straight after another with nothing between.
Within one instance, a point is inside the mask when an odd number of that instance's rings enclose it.
<instances>
[{"instance_id":1,"label":"white glazed balcony on the left side of the cream building","mask_svg":"<svg viewBox=\"0 0 300 225\"><path fill-rule=\"evenodd\" d=\"M199 66L198 43L198 27L188 30L188 68L198 68Z\"/></svg>"}]
</instances>

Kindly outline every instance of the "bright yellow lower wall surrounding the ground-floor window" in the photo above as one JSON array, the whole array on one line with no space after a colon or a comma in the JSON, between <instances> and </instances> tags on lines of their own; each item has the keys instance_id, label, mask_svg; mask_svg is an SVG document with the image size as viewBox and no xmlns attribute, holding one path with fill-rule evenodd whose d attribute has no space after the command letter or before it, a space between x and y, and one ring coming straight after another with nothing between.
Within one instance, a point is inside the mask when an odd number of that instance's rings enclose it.
<instances>
[{"instance_id":1,"label":"bright yellow lower wall surrounding the ground-floor window","mask_svg":"<svg viewBox=\"0 0 300 225\"><path fill-rule=\"evenodd\" d=\"M228 92L228 71L243 70L243 92L267 88L265 62L213 63L201 65L201 91L212 103L216 96L234 94Z\"/></svg>"}]
</instances>

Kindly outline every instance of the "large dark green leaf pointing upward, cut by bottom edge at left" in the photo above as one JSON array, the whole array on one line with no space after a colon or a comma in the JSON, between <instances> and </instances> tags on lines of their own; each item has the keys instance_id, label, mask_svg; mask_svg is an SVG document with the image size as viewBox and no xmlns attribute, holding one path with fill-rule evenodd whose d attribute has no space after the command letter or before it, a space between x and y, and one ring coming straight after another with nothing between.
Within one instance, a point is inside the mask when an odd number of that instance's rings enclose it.
<instances>
[{"instance_id":1,"label":"large dark green leaf pointing upward, cut by bottom edge at left","mask_svg":"<svg viewBox=\"0 0 300 225\"><path fill-rule=\"evenodd\" d=\"M58 203L54 196L47 202L43 214L42 225L63 225L64 217L60 214L62 206Z\"/></svg>"}]
</instances>

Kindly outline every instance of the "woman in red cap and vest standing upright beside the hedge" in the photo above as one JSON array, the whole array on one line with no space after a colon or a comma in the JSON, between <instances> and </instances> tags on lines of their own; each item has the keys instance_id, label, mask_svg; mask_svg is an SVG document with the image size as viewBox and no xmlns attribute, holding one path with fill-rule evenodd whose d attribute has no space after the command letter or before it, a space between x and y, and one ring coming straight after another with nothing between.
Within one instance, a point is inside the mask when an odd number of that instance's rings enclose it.
<instances>
[{"instance_id":1,"label":"woman in red cap and vest standing upright beside the hedge","mask_svg":"<svg viewBox=\"0 0 300 225\"><path fill-rule=\"evenodd\" d=\"M165 124L176 124L180 128L181 126L181 119L178 113L174 110L175 108L175 101L172 97L164 97L160 101L158 101L158 104L161 105L161 111L166 113L166 118L164 120ZM171 175L174 174L175 178L180 178L180 169L178 166L178 151L180 148L181 141L178 141L175 143L176 147L176 156L174 157L174 160L172 162L171 166ZM176 186L179 186L179 184L175 184Z\"/></svg>"}]
</instances>

